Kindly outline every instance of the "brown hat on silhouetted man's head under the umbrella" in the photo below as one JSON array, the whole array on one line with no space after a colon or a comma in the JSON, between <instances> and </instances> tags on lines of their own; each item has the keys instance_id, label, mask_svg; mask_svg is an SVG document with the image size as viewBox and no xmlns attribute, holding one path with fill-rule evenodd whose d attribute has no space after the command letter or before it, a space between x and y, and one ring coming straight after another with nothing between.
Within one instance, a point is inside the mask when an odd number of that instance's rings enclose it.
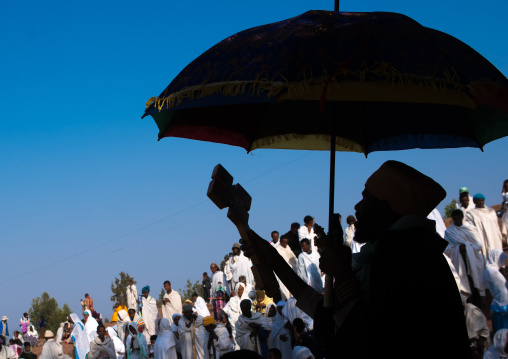
<instances>
[{"instance_id":1,"label":"brown hat on silhouetted man's head under the umbrella","mask_svg":"<svg viewBox=\"0 0 508 359\"><path fill-rule=\"evenodd\" d=\"M401 216L423 217L446 197L446 191L432 178L398 161L386 161L374 172L365 189Z\"/></svg>"}]
</instances>

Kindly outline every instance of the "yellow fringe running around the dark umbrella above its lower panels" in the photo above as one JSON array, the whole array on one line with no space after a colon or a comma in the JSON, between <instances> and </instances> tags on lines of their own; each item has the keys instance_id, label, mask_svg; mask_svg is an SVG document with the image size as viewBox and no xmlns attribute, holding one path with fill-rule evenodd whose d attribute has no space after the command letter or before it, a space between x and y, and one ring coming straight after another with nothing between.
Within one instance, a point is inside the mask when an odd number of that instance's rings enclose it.
<instances>
[{"instance_id":1,"label":"yellow fringe running around the dark umbrella above its lower panels","mask_svg":"<svg viewBox=\"0 0 508 359\"><path fill-rule=\"evenodd\" d=\"M364 64L360 70L350 71L343 69L340 74L333 76L329 83L340 86L340 83L347 78L356 78L359 82L375 81L387 82L393 86L411 87L422 91L429 89L446 92L449 88L454 90L472 93L473 89L460 82L455 69L442 72L442 78L437 78L437 73L432 76L418 76L414 74L400 73L397 69L388 64L381 64L376 69L368 69ZM311 86L323 84L327 76L307 80L305 74L304 80L297 82L288 81L283 75L279 75L283 81L271 81L267 78L259 77L253 81L227 81L218 83L205 83L197 86L186 87L181 91L174 92L167 97L151 97L145 105L145 108L156 108L159 112L169 110L180 105L185 100L195 100L212 95L238 96L252 94L260 96L264 94L267 98L276 98L283 92L287 92L291 97L304 97L309 93Z\"/></svg>"}]
</instances>

